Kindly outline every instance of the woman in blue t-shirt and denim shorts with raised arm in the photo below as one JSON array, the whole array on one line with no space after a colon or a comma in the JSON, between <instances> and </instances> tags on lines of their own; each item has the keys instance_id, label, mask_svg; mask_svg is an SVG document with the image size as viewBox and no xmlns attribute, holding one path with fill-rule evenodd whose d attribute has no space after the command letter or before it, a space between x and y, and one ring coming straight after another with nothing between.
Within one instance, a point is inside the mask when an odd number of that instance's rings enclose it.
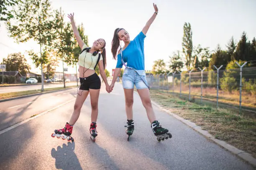
<instances>
[{"instance_id":1,"label":"woman in blue t-shirt and denim shorts with raised arm","mask_svg":"<svg viewBox=\"0 0 256 170\"><path fill-rule=\"evenodd\" d=\"M128 32L123 28L117 28L114 32L114 37L112 40L112 54L113 58L116 60L117 65L115 68L114 77L110 85L110 91L113 90L115 81L120 73L121 68L125 65L125 70L123 72L123 89L125 93L125 111L127 115L127 130L128 140L133 134L134 122L133 122L133 87L137 88L138 94L141 97L143 106L146 108L148 115L148 120L151 122L151 128L156 136L157 140L164 140L171 138L172 135L168 133L168 130L162 128L159 122L156 120L154 110L151 105L149 86L146 80L145 66L144 66L144 38L148 32L148 28L153 23L158 13L158 8L155 4L155 12L152 17L148 20L142 31L134 38L130 40ZM124 47L122 47L117 55L118 48L120 46L120 41L124 42ZM116 56L117 55L117 56ZM127 63L127 64L125 64Z\"/></svg>"}]
</instances>

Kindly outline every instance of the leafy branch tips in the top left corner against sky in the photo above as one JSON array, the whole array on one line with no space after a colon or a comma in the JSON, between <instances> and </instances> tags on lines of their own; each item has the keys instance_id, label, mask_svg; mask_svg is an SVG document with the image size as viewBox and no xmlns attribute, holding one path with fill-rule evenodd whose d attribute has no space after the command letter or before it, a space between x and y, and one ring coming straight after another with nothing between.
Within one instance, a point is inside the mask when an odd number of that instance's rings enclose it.
<instances>
[{"instance_id":1,"label":"leafy branch tips in the top left corner against sky","mask_svg":"<svg viewBox=\"0 0 256 170\"><path fill-rule=\"evenodd\" d=\"M9 21L13 18L13 13L8 10L8 7L12 7L18 4L20 0L0 0L0 21Z\"/></svg>"}]
</instances>

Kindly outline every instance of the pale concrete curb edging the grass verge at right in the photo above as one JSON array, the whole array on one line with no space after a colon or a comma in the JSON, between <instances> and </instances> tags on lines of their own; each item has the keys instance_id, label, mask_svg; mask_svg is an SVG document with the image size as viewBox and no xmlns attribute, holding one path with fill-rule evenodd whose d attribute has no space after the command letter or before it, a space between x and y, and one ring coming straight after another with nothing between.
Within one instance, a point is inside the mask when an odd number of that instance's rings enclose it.
<instances>
[{"instance_id":1,"label":"pale concrete curb edging the grass verge at right","mask_svg":"<svg viewBox=\"0 0 256 170\"><path fill-rule=\"evenodd\" d=\"M138 92L136 92L138 94ZM229 145L228 143L222 141L222 140L218 140L215 139L214 136L212 136L210 133L208 133L207 130L202 130L202 128L198 125L196 125L193 122L190 122L189 120L186 120L172 112L170 112L169 110L165 109L164 107L161 107L160 105L158 105L156 102L152 101L152 104L155 105L156 107L159 107L161 110L164 110L165 112L167 112L169 115L172 115L173 117L175 117L176 119L180 120L181 122L183 122L184 124L188 125L189 127L191 127L193 130L197 131L198 133L201 133L202 135L204 135L208 140L212 140L213 142L215 142L216 144L222 146L223 148L225 148L226 150L230 151L231 153L237 155L238 157L242 158L243 160L247 161L248 163L250 163L251 165L253 165L254 167L256 167L256 159L253 158L253 156L249 153L246 153L243 150L240 150L232 145Z\"/></svg>"}]
</instances>

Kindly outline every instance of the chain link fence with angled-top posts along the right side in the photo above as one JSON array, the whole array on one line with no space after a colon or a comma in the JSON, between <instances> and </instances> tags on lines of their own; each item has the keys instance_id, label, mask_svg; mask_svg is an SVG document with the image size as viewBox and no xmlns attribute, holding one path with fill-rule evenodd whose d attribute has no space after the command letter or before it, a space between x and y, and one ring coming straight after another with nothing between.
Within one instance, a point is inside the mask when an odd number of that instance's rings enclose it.
<instances>
[{"instance_id":1,"label":"chain link fence with angled-top posts along the right side","mask_svg":"<svg viewBox=\"0 0 256 170\"><path fill-rule=\"evenodd\" d=\"M256 113L256 67L148 74L147 81L151 89L197 104Z\"/></svg>"}]
</instances>

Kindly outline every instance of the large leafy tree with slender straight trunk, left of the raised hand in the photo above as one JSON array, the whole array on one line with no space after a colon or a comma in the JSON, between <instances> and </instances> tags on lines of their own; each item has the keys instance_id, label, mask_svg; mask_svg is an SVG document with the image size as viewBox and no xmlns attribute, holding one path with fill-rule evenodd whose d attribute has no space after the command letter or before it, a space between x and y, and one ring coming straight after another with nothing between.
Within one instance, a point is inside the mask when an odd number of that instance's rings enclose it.
<instances>
[{"instance_id":1,"label":"large leafy tree with slender straight trunk, left of the raised hand","mask_svg":"<svg viewBox=\"0 0 256 170\"><path fill-rule=\"evenodd\" d=\"M41 54L41 48L46 53L46 47L51 47L54 38L54 22L50 6L49 0L24 0L18 3L17 9L12 10L16 22L7 22L10 37L15 38L16 42L32 39L40 45L40 57L37 55L33 58L38 60L34 62L41 63L42 91L44 91L43 64L47 62L45 58L47 55Z\"/></svg>"}]
</instances>

